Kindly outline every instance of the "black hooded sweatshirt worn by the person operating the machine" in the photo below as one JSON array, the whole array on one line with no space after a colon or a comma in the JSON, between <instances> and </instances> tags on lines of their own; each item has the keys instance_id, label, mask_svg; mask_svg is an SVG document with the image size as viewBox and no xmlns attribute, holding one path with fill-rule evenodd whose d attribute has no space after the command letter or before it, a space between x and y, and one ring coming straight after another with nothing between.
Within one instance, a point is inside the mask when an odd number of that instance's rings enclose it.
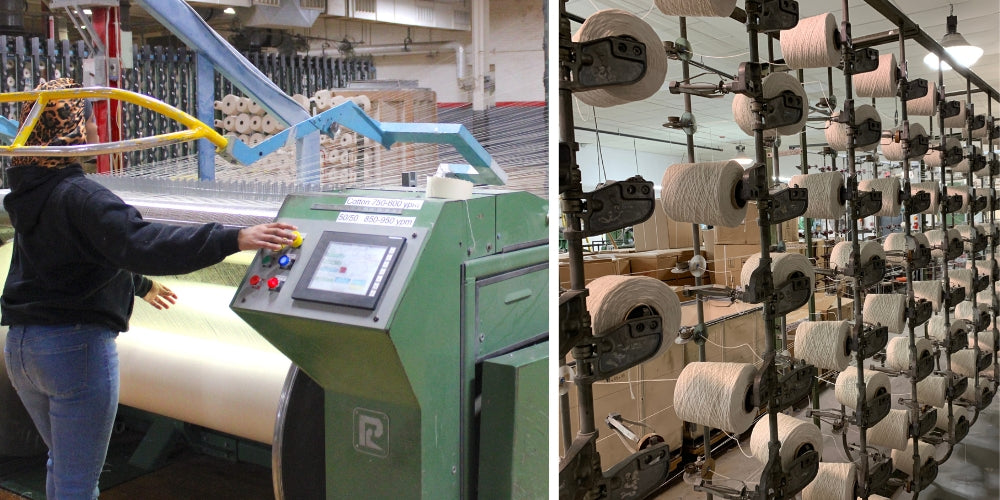
<instances>
[{"instance_id":1,"label":"black hooded sweatshirt worn by the person operating the machine","mask_svg":"<svg viewBox=\"0 0 1000 500\"><path fill-rule=\"evenodd\" d=\"M14 226L0 324L128 330L135 275L185 274L239 251L239 229L145 221L79 165L7 170ZM148 286L148 283L147 285Z\"/></svg>"}]
</instances>

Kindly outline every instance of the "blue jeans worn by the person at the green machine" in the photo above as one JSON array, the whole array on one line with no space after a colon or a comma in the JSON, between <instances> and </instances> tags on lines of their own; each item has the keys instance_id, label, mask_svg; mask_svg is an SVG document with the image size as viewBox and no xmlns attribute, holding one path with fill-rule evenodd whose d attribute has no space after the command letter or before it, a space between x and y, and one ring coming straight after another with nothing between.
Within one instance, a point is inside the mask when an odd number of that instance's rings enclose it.
<instances>
[{"instance_id":1,"label":"blue jeans worn by the person at the green machine","mask_svg":"<svg viewBox=\"0 0 1000 500\"><path fill-rule=\"evenodd\" d=\"M97 325L12 326L4 358L49 447L49 500L94 500L118 411L118 333Z\"/></svg>"}]
</instances>

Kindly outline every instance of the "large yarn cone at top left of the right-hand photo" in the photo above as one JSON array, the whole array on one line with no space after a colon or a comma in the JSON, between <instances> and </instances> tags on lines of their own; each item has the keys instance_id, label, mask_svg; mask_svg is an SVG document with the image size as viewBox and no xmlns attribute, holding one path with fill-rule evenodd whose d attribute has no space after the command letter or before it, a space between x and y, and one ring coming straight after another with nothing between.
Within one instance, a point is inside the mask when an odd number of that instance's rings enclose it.
<instances>
[{"instance_id":1,"label":"large yarn cone at top left of the right-hand photo","mask_svg":"<svg viewBox=\"0 0 1000 500\"><path fill-rule=\"evenodd\" d=\"M574 95L591 106L607 108L641 101L660 90L667 76L667 53L656 31L629 12L606 9L588 17L573 34L573 41L586 42L608 36L629 36L646 45L646 75L631 85L587 90Z\"/></svg>"}]
</instances>

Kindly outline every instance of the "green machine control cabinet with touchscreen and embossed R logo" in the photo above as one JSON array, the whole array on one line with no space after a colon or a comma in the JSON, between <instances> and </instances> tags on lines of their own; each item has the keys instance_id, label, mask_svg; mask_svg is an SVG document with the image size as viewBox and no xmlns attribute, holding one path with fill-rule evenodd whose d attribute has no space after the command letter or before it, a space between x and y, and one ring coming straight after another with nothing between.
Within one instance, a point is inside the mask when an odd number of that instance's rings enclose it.
<instances>
[{"instance_id":1,"label":"green machine control cabinet with touchscreen and embossed R logo","mask_svg":"<svg viewBox=\"0 0 1000 500\"><path fill-rule=\"evenodd\" d=\"M283 395L279 497L547 496L546 213L500 190L285 200L301 241L259 252L231 304L308 375Z\"/></svg>"}]
</instances>

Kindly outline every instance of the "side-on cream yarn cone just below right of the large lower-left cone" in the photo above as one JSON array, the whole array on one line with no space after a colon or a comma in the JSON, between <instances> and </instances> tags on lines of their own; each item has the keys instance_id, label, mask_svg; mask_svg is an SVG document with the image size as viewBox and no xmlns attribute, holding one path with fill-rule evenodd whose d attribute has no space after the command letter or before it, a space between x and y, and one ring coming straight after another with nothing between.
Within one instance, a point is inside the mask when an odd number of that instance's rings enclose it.
<instances>
[{"instance_id":1,"label":"side-on cream yarn cone just below right of the large lower-left cone","mask_svg":"<svg viewBox=\"0 0 1000 500\"><path fill-rule=\"evenodd\" d=\"M674 386L674 412L685 422L741 434L757 415L754 374L749 363L688 363Z\"/></svg>"}]
</instances>

